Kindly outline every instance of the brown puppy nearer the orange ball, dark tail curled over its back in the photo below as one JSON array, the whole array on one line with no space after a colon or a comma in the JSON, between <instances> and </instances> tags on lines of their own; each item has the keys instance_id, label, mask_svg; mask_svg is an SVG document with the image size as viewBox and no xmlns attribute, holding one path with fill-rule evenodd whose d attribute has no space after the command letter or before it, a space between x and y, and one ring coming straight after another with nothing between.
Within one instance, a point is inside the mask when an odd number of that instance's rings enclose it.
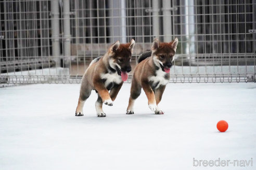
<instances>
[{"instance_id":1,"label":"brown puppy nearer the orange ball, dark tail curled over its back","mask_svg":"<svg viewBox=\"0 0 256 170\"><path fill-rule=\"evenodd\" d=\"M166 84L170 80L170 68L176 52L178 39L171 43L160 43L155 39L151 51L144 52L138 58L132 78L131 95L126 114L134 114L133 105L143 88L148 98L149 108L155 114L163 114L158 108Z\"/></svg>"}]
</instances>

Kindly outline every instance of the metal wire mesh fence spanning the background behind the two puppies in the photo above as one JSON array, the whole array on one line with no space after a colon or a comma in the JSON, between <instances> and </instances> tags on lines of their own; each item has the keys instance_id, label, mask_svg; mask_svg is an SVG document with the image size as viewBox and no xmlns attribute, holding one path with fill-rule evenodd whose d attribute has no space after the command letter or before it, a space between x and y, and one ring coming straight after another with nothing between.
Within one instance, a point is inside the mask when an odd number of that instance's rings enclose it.
<instances>
[{"instance_id":1,"label":"metal wire mesh fence spanning the background behind the two puppies","mask_svg":"<svg viewBox=\"0 0 256 170\"><path fill-rule=\"evenodd\" d=\"M0 9L2 86L80 83L94 58L132 38L134 68L156 37L179 40L170 82L256 81L256 0L19 0Z\"/></svg>"}]
</instances>

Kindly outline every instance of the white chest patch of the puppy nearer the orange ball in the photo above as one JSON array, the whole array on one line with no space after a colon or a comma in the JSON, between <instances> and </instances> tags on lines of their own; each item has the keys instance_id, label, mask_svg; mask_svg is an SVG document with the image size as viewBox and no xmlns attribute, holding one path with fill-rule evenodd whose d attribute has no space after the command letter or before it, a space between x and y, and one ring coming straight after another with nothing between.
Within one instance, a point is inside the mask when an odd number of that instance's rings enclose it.
<instances>
[{"instance_id":1,"label":"white chest patch of the puppy nearer the orange ball","mask_svg":"<svg viewBox=\"0 0 256 170\"><path fill-rule=\"evenodd\" d=\"M149 82L151 83L151 87L154 89L158 89L161 85L165 86L169 83L169 76L166 76L168 73L163 72L161 69L156 71L156 76L149 77Z\"/></svg>"}]
</instances>

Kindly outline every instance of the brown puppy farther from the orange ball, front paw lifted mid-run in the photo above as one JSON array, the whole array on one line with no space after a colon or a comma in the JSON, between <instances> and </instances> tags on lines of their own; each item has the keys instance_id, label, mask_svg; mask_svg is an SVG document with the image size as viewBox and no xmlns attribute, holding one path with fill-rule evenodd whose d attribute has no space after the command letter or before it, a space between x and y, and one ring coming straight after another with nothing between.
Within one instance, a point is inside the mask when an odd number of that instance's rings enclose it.
<instances>
[{"instance_id":1,"label":"brown puppy farther from the orange ball, front paw lifted mid-run","mask_svg":"<svg viewBox=\"0 0 256 170\"><path fill-rule=\"evenodd\" d=\"M130 62L134 45L133 39L127 44L120 44L117 41L104 56L99 56L91 62L82 78L75 116L83 116L84 103L91 91L95 90L98 93L98 100L95 103L97 116L106 117L102 105L104 103L112 106L123 81L127 80L127 73L132 69Z\"/></svg>"}]
</instances>

